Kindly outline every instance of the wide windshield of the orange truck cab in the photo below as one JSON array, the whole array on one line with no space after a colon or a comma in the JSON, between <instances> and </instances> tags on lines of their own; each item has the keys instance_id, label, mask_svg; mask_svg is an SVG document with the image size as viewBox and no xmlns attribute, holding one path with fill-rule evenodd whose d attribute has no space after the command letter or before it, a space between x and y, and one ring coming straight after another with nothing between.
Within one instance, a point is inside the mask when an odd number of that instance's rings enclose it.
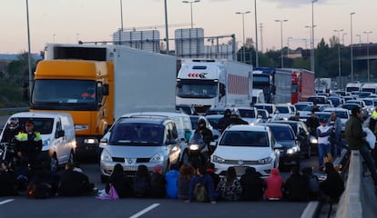
<instances>
[{"instance_id":1,"label":"wide windshield of the orange truck cab","mask_svg":"<svg viewBox=\"0 0 377 218\"><path fill-rule=\"evenodd\" d=\"M92 80L37 79L32 103L95 103L96 87L96 82Z\"/></svg>"}]
</instances>

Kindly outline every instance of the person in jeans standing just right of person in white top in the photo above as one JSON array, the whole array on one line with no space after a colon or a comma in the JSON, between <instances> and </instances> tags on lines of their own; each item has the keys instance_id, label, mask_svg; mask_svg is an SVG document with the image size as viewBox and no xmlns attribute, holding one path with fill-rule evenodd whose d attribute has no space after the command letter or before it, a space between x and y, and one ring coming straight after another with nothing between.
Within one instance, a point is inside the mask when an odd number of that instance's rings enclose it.
<instances>
[{"instance_id":1,"label":"person in jeans standing just right of person in white top","mask_svg":"<svg viewBox=\"0 0 377 218\"><path fill-rule=\"evenodd\" d=\"M335 112L331 112L327 125L331 127L330 145L333 157L341 156L341 118Z\"/></svg>"}]
</instances>

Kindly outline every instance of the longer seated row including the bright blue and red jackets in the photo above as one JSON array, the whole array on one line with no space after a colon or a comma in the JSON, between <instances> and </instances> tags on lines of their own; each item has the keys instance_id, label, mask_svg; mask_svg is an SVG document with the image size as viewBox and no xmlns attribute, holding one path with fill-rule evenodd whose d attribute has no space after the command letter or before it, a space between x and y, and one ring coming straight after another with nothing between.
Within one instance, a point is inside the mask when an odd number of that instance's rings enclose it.
<instances>
[{"instance_id":1,"label":"longer seated row including the bright blue and red jackets","mask_svg":"<svg viewBox=\"0 0 377 218\"><path fill-rule=\"evenodd\" d=\"M190 202L217 201L318 201L338 199L344 190L341 175L332 163L326 163L327 179L319 182L312 173L311 167L302 169L292 167L290 177L284 180L278 169L272 169L270 176L262 178L253 167L237 176L234 167L229 167L225 176L214 173L213 163L209 166L194 169L189 164L171 164L167 173L163 173L162 165L156 165L152 173L148 173L146 165L139 165L133 179L123 174L123 167L117 164L114 173L107 181L106 191L110 185L115 187L122 197L171 198Z\"/></svg>"}]
</instances>

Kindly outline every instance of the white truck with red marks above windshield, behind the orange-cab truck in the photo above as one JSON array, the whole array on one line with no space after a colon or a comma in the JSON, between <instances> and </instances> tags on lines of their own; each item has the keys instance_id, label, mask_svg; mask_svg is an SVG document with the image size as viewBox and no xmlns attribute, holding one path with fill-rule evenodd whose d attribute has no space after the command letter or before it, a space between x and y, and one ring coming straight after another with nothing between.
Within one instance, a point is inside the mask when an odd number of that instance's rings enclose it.
<instances>
[{"instance_id":1,"label":"white truck with red marks above windshield, behind the orange-cab truck","mask_svg":"<svg viewBox=\"0 0 377 218\"><path fill-rule=\"evenodd\" d=\"M191 104L199 113L210 107L250 105L252 66L230 60L182 59L176 104Z\"/></svg>"}]
</instances>

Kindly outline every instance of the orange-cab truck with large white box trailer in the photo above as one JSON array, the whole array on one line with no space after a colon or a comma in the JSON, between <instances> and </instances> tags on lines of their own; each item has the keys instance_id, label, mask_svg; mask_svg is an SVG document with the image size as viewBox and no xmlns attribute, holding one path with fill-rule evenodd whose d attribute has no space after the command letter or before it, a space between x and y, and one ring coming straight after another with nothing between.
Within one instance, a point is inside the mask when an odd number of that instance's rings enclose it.
<instances>
[{"instance_id":1,"label":"orange-cab truck with large white box trailer","mask_svg":"<svg viewBox=\"0 0 377 218\"><path fill-rule=\"evenodd\" d=\"M72 114L76 154L97 154L122 114L175 111L176 57L122 45L46 45L31 111Z\"/></svg>"}]
</instances>

